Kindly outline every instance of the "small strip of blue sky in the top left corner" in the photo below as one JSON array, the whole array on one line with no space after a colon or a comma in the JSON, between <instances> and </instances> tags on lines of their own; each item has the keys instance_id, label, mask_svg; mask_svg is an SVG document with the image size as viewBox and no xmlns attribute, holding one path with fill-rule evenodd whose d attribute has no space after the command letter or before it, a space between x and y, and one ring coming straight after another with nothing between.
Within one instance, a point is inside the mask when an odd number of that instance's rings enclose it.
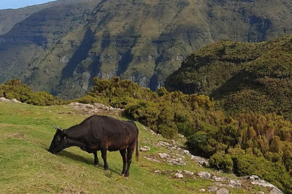
<instances>
[{"instance_id":1,"label":"small strip of blue sky in the top left corner","mask_svg":"<svg viewBox=\"0 0 292 194\"><path fill-rule=\"evenodd\" d=\"M29 5L43 4L53 0L0 0L0 9L22 8Z\"/></svg>"}]
</instances>

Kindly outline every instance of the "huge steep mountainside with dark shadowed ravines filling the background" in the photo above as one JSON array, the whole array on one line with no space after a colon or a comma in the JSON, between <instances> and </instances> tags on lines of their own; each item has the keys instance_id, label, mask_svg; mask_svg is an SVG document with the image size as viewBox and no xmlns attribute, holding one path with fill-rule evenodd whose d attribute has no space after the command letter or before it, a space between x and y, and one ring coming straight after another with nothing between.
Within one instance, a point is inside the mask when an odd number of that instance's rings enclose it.
<instances>
[{"instance_id":1,"label":"huge steep mountainside with dark shadowed ravines filling the background","mask_svg":"<svg viewBox=\"0 0 292 194\"><path fill-rule=\"evenodd\" d=\"M33 7L39 10L0 36L0 82L20 78L65 99L83 96L95 76L155 90L202 46L292 33L288 0L59 0Z\"/></svg>"}]
</instances>

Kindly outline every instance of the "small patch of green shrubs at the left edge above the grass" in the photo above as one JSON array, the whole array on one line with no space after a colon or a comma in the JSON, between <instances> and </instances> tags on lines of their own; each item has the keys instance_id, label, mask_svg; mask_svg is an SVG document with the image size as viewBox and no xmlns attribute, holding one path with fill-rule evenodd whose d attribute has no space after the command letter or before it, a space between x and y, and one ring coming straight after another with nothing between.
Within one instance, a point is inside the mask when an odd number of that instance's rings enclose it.
<instances>
[{"instance_id":1,"label":"small patch of green shrubs at the left edge above the grass","mask_svg":"<svg viewBox=\"0 0 292 194\"><path fill-rule=\"evenodd\" d=\"M31 89L21 84L19 79L13 79L0 85L0 97L13 99L27 104L38 106L60 105L62 100L58 97L53 97L50 93L32 92Z\"/></svg>"}]
</instances>

